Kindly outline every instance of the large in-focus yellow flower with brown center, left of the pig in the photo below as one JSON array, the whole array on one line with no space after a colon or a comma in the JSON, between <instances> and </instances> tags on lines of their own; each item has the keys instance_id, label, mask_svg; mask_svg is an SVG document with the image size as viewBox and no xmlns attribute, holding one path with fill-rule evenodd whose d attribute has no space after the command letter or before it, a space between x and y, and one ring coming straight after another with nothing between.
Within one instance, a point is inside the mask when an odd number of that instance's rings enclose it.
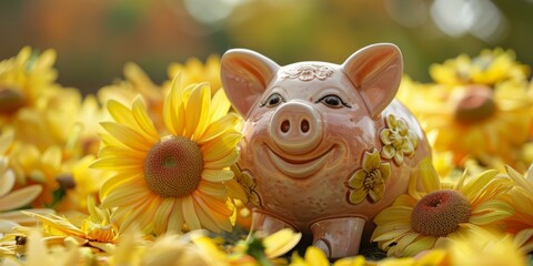
<instances>
[{"instance_id":1,"label":"large in-focus yellow flower with brown center, left of the pig","mask_svg":"<svg viewBox=\"0 0 533 266\"><path fill-rule=\"evenodd\" d=\"M100 187L102 207L114 208L121 231L132 224L160 235L207 228L231 231L233 206L224 182L238 156L239 116L228 113L223 91L211 99L209 84L185 89L179 79L165 98L158 132L138 96L128 109L108 102L114 122L102 122L103 146L93 167L115 171Z\"/></svg>"}]
</instances>

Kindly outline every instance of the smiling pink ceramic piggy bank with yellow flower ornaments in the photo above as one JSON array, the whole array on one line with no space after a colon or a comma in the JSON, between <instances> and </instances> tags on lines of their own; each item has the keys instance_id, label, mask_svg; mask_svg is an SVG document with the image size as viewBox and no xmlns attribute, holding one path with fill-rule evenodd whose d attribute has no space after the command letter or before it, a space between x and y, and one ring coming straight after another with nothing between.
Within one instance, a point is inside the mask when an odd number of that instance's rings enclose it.
<instances>
[{"instance_id":1,"label":"smiling pink ceramic piggy bank with yellow flower ornaments","mask_svg":"<svg viewBox=\"0 0 533 266\"><path fill-rule=\"evenodd\" d=\"M292 227L329 257L358 254L374 216L430 155L420 125L394 100L400 50L380 43L341 65L280 66L237 49L221 64L225 93L245 119L238 181L254 204L251 229Z\"/></svg>"}]
</instances>

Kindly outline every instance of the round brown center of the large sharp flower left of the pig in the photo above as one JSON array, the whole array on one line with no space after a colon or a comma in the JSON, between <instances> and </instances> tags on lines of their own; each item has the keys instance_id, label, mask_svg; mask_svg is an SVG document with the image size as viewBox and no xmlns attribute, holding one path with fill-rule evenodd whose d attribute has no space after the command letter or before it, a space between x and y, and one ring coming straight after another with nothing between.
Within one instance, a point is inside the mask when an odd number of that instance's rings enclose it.
<instances>
[{"instance_id":1,"label":"round brown center of the large sharp flower left of the pig","mask_svg":"<svg viewBox=\"0 0 533 266\"><path fill-rule=\"evenodd\" d=\"M163 197L187 196L197 190L203 171L198 144L183 136L170 136L150 149L144 158L148 187Z\"/></svg>"}]
</instances>

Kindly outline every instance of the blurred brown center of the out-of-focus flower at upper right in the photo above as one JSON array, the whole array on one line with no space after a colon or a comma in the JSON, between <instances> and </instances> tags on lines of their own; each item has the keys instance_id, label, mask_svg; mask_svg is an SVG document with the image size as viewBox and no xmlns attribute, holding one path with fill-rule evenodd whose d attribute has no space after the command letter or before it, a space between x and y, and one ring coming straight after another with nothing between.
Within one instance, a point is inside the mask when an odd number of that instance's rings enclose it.
<instances>
[{"instance_id":1,"label":"blurred brown center of the out-of-focus flower at upper right","mask_svg":"<svg viewBox=\"0 0 533 266\"><path fill-rule=\"evenodd\" d=\"M455 108L459 122L472 123L490 117L496 111L493 92L484 85L472 85Z\"/></svg>"}]
</instances>

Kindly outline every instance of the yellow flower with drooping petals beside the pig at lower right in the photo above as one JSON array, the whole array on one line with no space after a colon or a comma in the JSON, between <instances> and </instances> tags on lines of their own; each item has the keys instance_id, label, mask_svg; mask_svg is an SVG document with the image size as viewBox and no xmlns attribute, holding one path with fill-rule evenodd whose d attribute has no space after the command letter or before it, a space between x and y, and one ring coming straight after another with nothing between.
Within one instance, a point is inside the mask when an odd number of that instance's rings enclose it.
<instances>
[{"instance_id":1,"label":"yellow flower with drooping petals beside the pig at lower right","mask_svg":"<svg viewBox=\"0 0 533 266\"><path fill-rule=\"evenodd\" d=\"M422 191L416 190L418 175L413 175L409 194L399 196L374 218L371 238L388 256L413 256L474 229L502 229L504 218L514 213L501 198L511 181L497 171L472 176L467 183L464 175L457 184L441 184L425 160L419 175Z\"/></svg>"}]
</instances>

